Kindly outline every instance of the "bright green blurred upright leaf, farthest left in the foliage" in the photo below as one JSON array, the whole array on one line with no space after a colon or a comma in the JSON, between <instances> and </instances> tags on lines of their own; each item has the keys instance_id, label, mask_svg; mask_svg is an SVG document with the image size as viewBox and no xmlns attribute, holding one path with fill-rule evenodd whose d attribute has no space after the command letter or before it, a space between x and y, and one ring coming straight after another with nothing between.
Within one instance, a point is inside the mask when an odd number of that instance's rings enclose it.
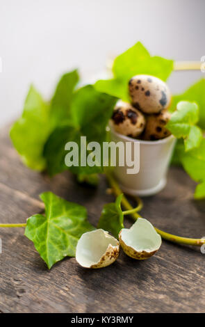
<instances>
[{"instance_id":1,"label":"bright green blurred upright leaf, farthest left in the foliage","mask_svg":"<svg viewBox=\"0 0 205 327\"><path fill-rule=\"evenodd\" d=\"M31 86L22 117L10 129L10 138L26 166L44 170L44 143L50 133L49 106L41 95Z\"/></svg>"}]
</instances>

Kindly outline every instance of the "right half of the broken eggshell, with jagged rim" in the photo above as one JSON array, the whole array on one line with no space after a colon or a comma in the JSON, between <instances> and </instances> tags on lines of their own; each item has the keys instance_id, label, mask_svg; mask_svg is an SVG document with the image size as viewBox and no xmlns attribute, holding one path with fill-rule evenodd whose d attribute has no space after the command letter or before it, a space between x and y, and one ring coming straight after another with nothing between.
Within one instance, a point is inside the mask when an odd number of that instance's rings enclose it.
<instances>
[{"instance_id":1,"label":"right half of the broken eggshell, with jagged rim","mask_svg":"<svg viewBox=\"0 0 205 327\"><path fill-rule=\"evenodd\" d=\"M138 218L130 229L123 228L119 239L124 253L136 260L148 259L161 247L161 236L144 218Z\"/></svg>"}]
</instances>

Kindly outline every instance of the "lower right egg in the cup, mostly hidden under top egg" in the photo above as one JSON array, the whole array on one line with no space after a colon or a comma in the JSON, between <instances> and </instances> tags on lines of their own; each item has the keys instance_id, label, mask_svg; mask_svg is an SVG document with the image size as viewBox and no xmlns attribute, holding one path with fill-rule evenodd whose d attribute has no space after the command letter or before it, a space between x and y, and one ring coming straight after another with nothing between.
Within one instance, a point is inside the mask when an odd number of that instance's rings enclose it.
<instances>
[{"instance_id":1,"label":"lower right egg in the cup, mostly hidden under top egg","mask_svg":"<svg viewBox=\"0 0 205 327\"><path fill-rule=\"evenodd\" d=\"M165 127L170 118L171 114L167 110L163 110L155 115L149 115L147 117L144 139L146 141L156 141L170 136L170 131Z\"/></svg>"}]
</instances>

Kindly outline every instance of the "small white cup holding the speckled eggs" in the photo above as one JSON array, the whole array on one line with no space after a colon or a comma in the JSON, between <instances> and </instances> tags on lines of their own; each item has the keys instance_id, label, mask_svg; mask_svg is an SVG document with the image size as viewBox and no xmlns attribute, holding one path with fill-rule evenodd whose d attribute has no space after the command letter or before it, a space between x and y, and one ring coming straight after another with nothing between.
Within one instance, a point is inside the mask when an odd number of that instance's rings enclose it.
<instances>
[{"instance_id":1,"label":"small white cup holding the speckled eggs","mask_svg":"<svg viewBox=\"0 0 205 327\"><path fill-rule=\"evenodd\" d=\"M158 141L141 141L118 134L110 126L110 138L115 143L121 141L140 143L140 170L137 174L127 174L127 166L113 168L115 178L124 193L131 196L152 196L166 185L167 168L172 157L176 139L170 135ZM133 147L133 146L132 146Z\"/></svg>"}]
</instances>

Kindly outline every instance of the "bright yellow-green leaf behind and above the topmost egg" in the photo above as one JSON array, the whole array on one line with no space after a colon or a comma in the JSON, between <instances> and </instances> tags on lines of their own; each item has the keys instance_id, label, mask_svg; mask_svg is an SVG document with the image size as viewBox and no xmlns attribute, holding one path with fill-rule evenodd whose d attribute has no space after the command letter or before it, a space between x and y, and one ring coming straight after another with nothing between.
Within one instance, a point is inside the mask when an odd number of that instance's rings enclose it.
<instances>
[{"instance_id":1,"label":"bright yellow-green leaf behind and above the topmost egg","mask_svg":"<svg viewBox=\"0 0 205 327\"><path fill-rule=\"evenodd\" d=\"M173 70L173 61L150 56L141 42L136 43L113 63L113 79L99 80L95 88L124 101L129 101L128 82L136 74L149 74L165 81Z\"/></svg>"}]
</instances>

